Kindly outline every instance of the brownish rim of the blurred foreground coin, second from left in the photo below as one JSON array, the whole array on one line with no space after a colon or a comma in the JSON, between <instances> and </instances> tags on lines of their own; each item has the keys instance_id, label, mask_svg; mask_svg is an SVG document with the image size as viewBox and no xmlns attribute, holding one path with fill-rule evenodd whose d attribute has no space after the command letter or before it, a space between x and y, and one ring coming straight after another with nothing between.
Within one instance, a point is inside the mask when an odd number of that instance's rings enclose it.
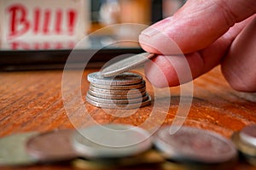
<instances>
[{"instance_id":1,"label":"brownish rim of the blurred foreground coin, second from left","mask_svg":"<svg viewBox=\"0 0 256 170\"><path fill-rule=\"evenodd\" d=\"M38 135L35 135L31 139L27 140L26 150L27 150L27 152L30 156L36 158L38 161L67 161L67 160L72 160L73 158L78 157L78 153L75 150L73 150L73 153L69 152L68 154L65 154L65 155L63 155L63 153L61 153L61 155L60 155L60 154L58 154L58 152L55 152L55 154L52 155L47 150L42 150L42 148L39 148L40 150L32 149L31 144L33 144L33 142L36 139L38 139L38 138L40 139L42 137L45 138L45 136L47 136L47 135L57 135L58 137L60 137L61 135L65 135L65 136L69 135L70 138L71 138L74 131L75 130L72 130L72 129L63 129L63 130L50 131L50 132L46 132L46 133L38 133ZM66 134L66 133L69 133L69 134ZM54 147L54 146L52 146L52 147ZM73 149L71 141L70 141L70 148L69 149Z\"/></svg>"}]
</instances>

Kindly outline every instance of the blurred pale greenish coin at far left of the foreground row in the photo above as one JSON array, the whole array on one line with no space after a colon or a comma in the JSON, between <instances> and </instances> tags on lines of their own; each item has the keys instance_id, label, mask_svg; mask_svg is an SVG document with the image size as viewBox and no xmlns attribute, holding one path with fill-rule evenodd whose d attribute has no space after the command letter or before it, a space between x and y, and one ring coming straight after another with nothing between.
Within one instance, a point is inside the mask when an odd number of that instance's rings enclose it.
<instances>
[{"instance_id":1,"label":"blurred pale greenish coin at far left of the foreground row","mask_svg":"<svg viewBox=\"0 0 256 170\"><path fill-rule=\"evenodd\" d=\"M30 156L25 149L25 144L27 139L30 139L32 136L36 135L37 132L30 132L30 133L15 133L11 134L9 136L3 137L0 139L0 144L6 143L6 144L11 144L12 142L15 142L15 149L11 148L12 151L10 151L10 148L6 148L6 145L4 146L1 144L1 149L0 149L0 165L3 166L25 166L25 165L32 165L34 163L37 163L38 161ZM1 151L2 150L2 151ZM3 153L3 150L5 150L5 153L12 153L15 154L15 156L10 157L9 159L6 159L6 157L1 156L1 152ZM17 159L17 154L14 153L14 150L22 150L22 156L20 156Z\"/></svg>"}]
</instances>

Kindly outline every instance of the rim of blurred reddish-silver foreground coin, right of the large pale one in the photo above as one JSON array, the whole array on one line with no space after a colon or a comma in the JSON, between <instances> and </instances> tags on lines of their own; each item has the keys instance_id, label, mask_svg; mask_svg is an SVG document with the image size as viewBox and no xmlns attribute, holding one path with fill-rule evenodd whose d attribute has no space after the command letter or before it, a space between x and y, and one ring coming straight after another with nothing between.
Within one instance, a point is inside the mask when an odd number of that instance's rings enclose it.
<instances>
[{"instance_id":1,"label":"rim of blurred reddish-silver foreground coin, right of the large pale one","mask_svg":"<svg viewBox=\"0 0 256 170\"><path fill-rule=\"evenodd\" d=\"M175 127L175 126L172 126L172 127ZM209 160L207 158L204 159L201 156L193 156L193 157L187 156L186 153L183 153L183 151L181 151L180 148L178 148L177 146L167 144L164 139L161 139L160 133L166 133L166 130L169 130L167 132L170 132L170 128L171 128L170 126L160 128L158 130L158 132L154 135L154 144L158 150L164 152L165 155L172 160L192 161L192 162L194 161L194 162L210 163L211 164L211 163L224 163L227 161L231 161L231 160L235 159L237 156L236 146L229 139L225 139L220 134L213 133L208 130L203 130L203 129L196 128L196 127L183 126L178 131L183 130L183 132L189 133L189 131L193 130L193 131L196 131L197 133L203 133L204 135L206 134L210 138L213 137L214 139L221 140L225 144L229 145L230 150L231 150L230 153L225 153L225 156L222 153L222 154L219 154L219 156L216 156L212 160ZM177 131L177 133L178 133L178 131ZM175 135L175 133L173 135Z\"/></svg>"}]
</instances>

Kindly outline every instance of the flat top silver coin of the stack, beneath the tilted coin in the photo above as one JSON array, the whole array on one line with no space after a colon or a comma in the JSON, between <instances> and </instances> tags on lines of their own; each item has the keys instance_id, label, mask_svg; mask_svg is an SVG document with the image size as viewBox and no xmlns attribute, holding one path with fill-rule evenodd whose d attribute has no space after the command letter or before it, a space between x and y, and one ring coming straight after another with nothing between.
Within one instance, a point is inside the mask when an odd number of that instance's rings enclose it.
<instances>
[{"instance_id":1,"label":"flat top silver coin of the stack, beneath the tilted coin","mask_svg":"<svg viewBox=\"0 0 256 170\"><path fill-rule=\"evenodd\" d=\"M92 83L113 86L137 84L143 81L143 77L132 72L124 72L116 77L102 77L99 72L93 72L88 75L87 79Z\"/></svg>"}]
</instances>

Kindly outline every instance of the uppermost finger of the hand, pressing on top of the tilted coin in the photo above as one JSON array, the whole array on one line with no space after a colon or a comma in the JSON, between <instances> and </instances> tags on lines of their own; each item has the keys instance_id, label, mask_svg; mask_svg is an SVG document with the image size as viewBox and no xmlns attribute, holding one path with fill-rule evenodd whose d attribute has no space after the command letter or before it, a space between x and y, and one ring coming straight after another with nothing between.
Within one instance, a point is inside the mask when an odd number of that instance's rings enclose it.
<instances>
[{"instance_id":1,"label":"uppermost finger of the hand, pressing on top of the tilted coin","mask_svg":"<svg viewBox=\"0 0 256 170\"><path fill-rule=\"evenodd\" d=\"M255 11L255 0L189 0L172 17L144 30L139 42L150 53L177 54L177 46L185 54L192 53L206 48Z\"/></svg>"}]
</instances>

